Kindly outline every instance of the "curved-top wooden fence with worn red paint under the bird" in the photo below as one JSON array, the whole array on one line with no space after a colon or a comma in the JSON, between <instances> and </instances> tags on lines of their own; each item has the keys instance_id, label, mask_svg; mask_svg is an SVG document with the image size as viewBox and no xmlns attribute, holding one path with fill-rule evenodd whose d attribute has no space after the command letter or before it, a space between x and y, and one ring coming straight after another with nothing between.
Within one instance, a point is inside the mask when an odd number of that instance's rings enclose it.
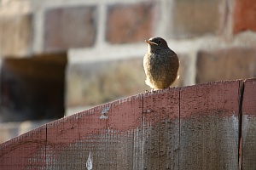
<instances>
[{"instance_id":1,"label":"curved-top wooden fence with worn red paint under the bird","mask_svg":"<svg viewBox=\"0 0 256 170\"><path fill-rule=\"evenodd\" d=\"M0 169L256 169L256 79L137 94L0 144Z\"/></svg>"}]
</instances>

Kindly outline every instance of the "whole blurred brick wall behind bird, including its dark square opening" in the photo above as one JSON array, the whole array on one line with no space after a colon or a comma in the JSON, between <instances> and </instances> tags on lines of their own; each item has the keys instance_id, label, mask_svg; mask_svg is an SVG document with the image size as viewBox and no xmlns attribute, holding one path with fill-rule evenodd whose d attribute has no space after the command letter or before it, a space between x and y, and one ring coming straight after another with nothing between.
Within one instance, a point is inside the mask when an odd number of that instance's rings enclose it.
<instances>
[{"instance_id":1,"label":"whole blurred brick wall behind bird, including its dark square opening","mask_svg":"<svg viewBox=\"0 0 256 170\"><path fill-rule=\"evenodd\" d=\"M0 0L0 143L150 90L150 37L179 55L175 87L256 77L254 0Z\"/></svg>"}]
</instances>

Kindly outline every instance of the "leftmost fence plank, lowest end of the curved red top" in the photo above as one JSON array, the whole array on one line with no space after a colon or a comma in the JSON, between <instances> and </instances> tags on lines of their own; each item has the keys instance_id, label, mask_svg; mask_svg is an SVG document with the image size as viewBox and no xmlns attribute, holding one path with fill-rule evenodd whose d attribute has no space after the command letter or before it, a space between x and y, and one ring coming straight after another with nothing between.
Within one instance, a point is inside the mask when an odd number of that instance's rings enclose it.
<instances>
[{"instance_id":1,"label":"leftmost fence plank, lowest end of the curved red top","mask_svg":"<svg viewBox=\"0 0 256 170\"><path fill-rule=\"evenodd\" d=\"M0 169L46 169L46 126L0 144Z\"/></svg>"}]
</instances>

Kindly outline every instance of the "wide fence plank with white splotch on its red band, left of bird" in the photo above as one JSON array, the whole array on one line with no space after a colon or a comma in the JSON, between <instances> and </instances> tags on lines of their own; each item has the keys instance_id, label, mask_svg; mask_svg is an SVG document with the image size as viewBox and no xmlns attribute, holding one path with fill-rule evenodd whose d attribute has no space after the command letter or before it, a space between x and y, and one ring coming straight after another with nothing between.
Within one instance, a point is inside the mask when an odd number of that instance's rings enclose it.
<instances>
[{"instance_id":1,"label":"wide fence plank with white splotch on its red band, left of bird","mask_svg":"<svg viewBox=\"0 0 256 170\"><path fill-rule=\"evenodd\" d=\"M121 99L47 124L47 168L140 169L142 96Z\"/></svg>"}]
</instances>

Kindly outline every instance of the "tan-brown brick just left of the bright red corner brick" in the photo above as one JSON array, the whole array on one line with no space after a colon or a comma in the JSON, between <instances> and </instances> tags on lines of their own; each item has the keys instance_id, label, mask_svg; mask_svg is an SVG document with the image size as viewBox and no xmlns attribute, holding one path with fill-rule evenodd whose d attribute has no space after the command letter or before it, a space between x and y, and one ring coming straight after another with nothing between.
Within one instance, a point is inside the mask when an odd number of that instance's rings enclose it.
<instances>
[{"instance_id":1,"label":"tan-brown brick just left of the bright red corner brick","mask_svg":"<svg viewBox=\"0 0 256 170\"><path fill-rule=\"evenodd\" d=\"M170 35L196 37L219 31L219 0L175 0L170 11Z\"/></svg>"}]
</instances>

